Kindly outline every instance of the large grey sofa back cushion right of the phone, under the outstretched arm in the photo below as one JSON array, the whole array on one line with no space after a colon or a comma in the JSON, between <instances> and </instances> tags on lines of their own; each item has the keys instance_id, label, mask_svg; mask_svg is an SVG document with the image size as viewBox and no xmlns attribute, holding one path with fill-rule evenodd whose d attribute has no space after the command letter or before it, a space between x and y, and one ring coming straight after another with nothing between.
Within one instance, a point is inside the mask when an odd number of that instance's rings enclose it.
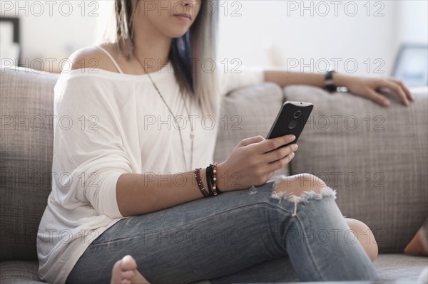
<instances>
[{"instance_id":1,"label":"large grey sofa back cushion right of the phone, under the outstretched arm","mask_svg":"<svg viewBox=\"0 0 428 284\"><path fill-rule=\"evenodd\" d=\"M409 107L387 95L392 104L382 107L349 93L285 88L287 100L314 104L290 167L337 189L342 214L367 223L379 252L402 253L428 216L427 93Z\"/></svg>"}]
</instances>

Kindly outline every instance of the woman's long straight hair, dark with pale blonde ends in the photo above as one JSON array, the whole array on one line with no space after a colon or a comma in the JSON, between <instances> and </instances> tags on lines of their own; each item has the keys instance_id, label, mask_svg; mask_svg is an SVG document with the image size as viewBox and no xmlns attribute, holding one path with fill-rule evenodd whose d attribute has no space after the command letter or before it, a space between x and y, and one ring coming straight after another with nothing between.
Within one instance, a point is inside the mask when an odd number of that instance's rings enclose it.
<instances>
[{"instance_id":1,"label":"woman's long straight hair, dark with pale blonde ends","mask_svg":"<svg viewBox=\"0 0 428 284\"><path fill-rule=\"evenodd\" d=\"M114 11L116 23L106 26L103 40L111 41L118 53L131 60L134 48L134 11L131 0L115 0ZM217 72L203 70L202 62L216 63L218 11L218 1L201 0L200 11L193 25L185 35L173 39L168 56L180 91L197 100L205 115L215 117L220 103Z\"/></svg>"}]
</instances>

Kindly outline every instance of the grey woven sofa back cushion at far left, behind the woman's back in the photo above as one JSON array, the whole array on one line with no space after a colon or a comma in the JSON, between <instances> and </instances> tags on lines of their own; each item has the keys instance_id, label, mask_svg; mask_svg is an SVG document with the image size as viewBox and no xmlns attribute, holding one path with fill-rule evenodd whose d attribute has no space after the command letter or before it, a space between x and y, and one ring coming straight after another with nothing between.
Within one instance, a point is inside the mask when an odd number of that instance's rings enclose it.
<instances>
[{"instance_id":1,"label":"grey woven sofa back cushion at far left, behind the woman's back","mask_svg":"<svg viewBox=\"0 0 428 284\"><path fill-rule=\"evenodd\" d=\"M36 233L51 191L58 76L0 73L0 260L36 260Z\"/></svg>"}]
</instances>

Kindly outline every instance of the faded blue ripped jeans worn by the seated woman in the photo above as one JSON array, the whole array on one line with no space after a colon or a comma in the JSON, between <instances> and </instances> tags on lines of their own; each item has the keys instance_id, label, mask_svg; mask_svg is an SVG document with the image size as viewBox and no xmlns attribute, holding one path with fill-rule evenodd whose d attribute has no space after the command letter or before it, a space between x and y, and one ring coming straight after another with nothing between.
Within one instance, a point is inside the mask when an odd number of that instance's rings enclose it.
<instances>
[{"instance_id":1,"label":"faded blue ripped jeans worn by the seated woman","mask_svg":"<svg viewBox=\"0 0 428 284\"><path fill-rule=\"evenodd\" d=\"M377 272L335 203L335 191L277 194L275 182L118 221L67 283L109 283L133 256L152 284L374 280Z\"/></svg>"}]
</instances>

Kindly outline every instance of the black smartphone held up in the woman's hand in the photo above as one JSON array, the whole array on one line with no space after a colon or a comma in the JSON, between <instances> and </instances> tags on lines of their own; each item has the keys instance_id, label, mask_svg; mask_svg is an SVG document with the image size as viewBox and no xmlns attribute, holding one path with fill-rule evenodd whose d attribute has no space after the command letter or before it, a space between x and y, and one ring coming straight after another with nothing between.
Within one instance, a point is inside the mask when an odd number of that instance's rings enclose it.
<instances>
[{"instance_id":1,"label":"black smartphone held up in the woman's hand","mask_svg":"<svg viewBox=\"0 0 428 284\"><path fill-rule=\"evenodd\" d=\"M284 135L295 135L295 140L288 144L284 144L281 147L297 142L300 133L302 133L302 130L309 119L312 108L314 108L314 105L310 102L284 102L280 112L278 112L275 122L270 128L269 134L267 134L267 139Z\"/></svg>"}]
</instances>

